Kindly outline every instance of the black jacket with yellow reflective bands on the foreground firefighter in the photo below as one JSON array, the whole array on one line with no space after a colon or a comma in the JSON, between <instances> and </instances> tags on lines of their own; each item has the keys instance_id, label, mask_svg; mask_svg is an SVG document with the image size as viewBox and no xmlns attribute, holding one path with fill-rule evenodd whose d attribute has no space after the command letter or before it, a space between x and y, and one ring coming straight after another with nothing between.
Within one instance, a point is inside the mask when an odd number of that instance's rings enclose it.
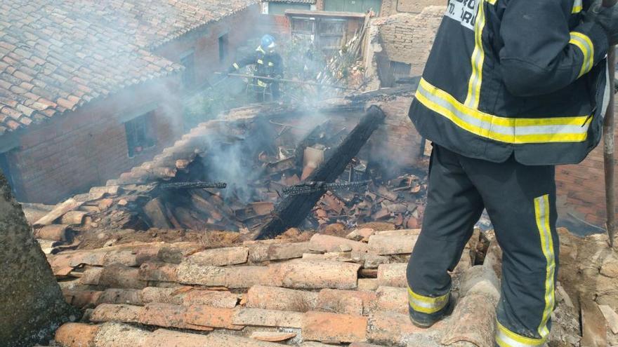
<instances>
[{"instance_id":1,"label":"black jacket with yellow reflective bands on the foreground firefighter","mask_svg":"<svg viewBox=\"0 0 618 347\"><path fill-rule=\"evenodd\" d=\"M607 36L586 0L449 0L409 116L471 158L579 163L600 141Z\"/></svg>"}]
</instances>

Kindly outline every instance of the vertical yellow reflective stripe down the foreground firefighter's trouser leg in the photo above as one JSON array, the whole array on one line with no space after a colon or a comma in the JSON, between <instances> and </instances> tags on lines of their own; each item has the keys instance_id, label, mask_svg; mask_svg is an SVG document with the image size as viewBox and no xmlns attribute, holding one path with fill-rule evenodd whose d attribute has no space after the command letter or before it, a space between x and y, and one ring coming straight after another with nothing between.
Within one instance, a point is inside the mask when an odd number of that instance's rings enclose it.
<instances>
[{"instance_id":1,"label":"vertical yellow reflective stripe down the foreground firefighter's trouser leg","mask_svg":"<svg viewBox=\"0 0 618 347\"><path fill-rule=\"evenodd\" d=\"M555 305L555 288L553 278L555 275L555 256L553 253L553 240L551 237L551 227L549 225L549 196L539 196L534 198L534 216L537 219L537 228L541 236L541 248L543 248L543 255L547 261L546 264L546 278L545 278L545 309L543 311L543 317L541 318L541 324L539 325L539 335L542 338L546 338L549 335L549 329L547 328L547 321L553 311Z\"/></svg>"}]
</instances>

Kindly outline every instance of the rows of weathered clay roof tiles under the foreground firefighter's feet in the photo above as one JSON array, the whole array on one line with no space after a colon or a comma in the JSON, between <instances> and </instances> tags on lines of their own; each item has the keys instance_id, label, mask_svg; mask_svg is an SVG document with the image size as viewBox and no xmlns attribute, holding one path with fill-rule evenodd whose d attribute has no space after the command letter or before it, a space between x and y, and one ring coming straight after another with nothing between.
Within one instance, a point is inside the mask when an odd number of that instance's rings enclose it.
<instances>
[{"instance_id":1,"label":"rows of weathered clay roof tiles under the foreground firefighter's feet","mask_svg":"<svg viewBox=\"0 0 618 347\"><path fill-rule=\"evenodd\" d=\"M150 325L195 332L171 336L168 342L176 345L200 339L204 346L277 346L263 341L284 341L289 346L353 343L350 346L358 347L471 341L490 346L487 341L493 336L492 313L498 295L495 274L490 266L472 267L469 257L462 259L456 272L466 290L459 293L452 317L431 329L419 329L409 322L406 264L397 261L405 261L414 242L406 250L398 247L402 237L417 235L417 230L376 231L365 243L315 234L308 242L247 241L211 250L199 250L202 246L195 243L149 243L51 255L60 278L86 269L79 275L79 285L65 290L65 297L75 306L93 307L89 320L98 324L70 323L58 330L56 340L60 346L79 346L75 339L90 336L79 343L120 346L103 342L105 336L111 337L107 329L121 327L150 341L163 330L150 333L133 326ZM380 242L372 242L374 237ZM272 250L263 252L261 247ZM274 247L279 247L279 252ZM347 253L390 254L390 258L378 266L375 278L359 278L359 273L364 273L359 268L364 265L354 257L342 261L303 259L306 254L324 255L328 254L322 253L325 250L341 247L357 249ZM160 252L163 249L166 251ZM159 257L170 252L181 254L180 264L166 263ZM273 258L275 254L279 257ZM287 257L281 259L281 254ZM272 262L275 259L277 262ZM388 266L393 268L390 278L381 271ZM487 274L479 276L483 271ZM361 288L361 280L372 280L375 285ZM219 341L221 336L233 341Z\"/></svg>"}]
</instances>

